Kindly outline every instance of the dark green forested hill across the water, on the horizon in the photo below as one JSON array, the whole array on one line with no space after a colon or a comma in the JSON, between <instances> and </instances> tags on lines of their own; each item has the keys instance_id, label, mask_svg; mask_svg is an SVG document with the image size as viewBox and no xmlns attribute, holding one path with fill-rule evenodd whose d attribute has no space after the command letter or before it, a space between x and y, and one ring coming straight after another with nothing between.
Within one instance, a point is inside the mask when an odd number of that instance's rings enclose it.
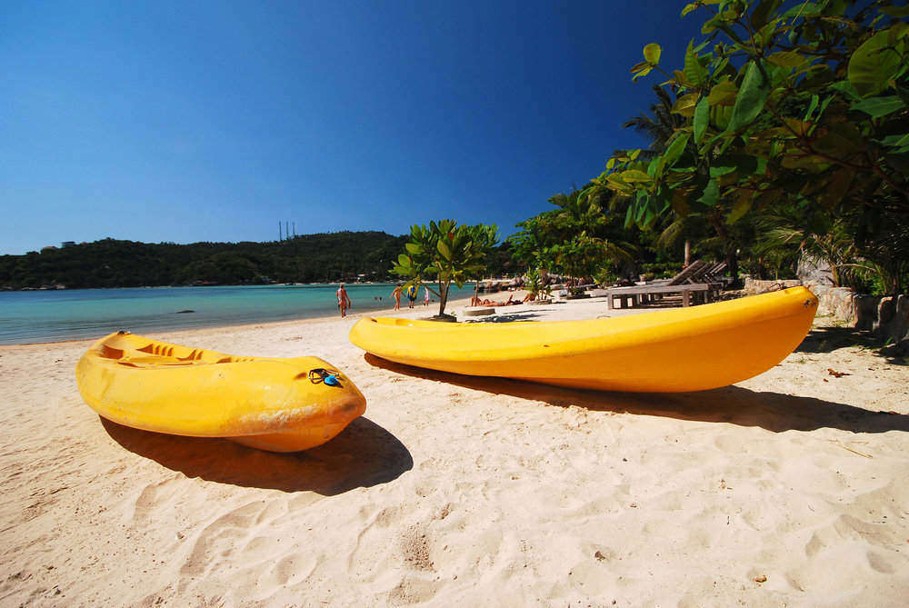
<instances>
[{"instance_id":1,"label":"dark green forested hill across the water, on the horizon","mask_svg":"<svg viewBox=\"0 0 909 608\"><path fill-rule=\"evenodd\" d=\"M135 243L105 239L41 253L0 256L0 288L44 285L323 283L382 281L404 252L404 236L381 232L306 234L271 243Z\"/></svg>"}]
</instances>

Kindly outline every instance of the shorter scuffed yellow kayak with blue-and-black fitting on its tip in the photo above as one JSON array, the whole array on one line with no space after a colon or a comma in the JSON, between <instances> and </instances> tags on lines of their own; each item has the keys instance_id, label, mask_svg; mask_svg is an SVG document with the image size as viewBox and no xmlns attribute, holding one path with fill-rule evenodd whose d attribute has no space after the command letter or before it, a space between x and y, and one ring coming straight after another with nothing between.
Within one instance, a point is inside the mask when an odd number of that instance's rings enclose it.
<instances>
[{"instance_id":1,"label":"shorter scuffed yellow kayak with blue-and-black fitting on its tip","mask_svg":"<svg viewBox=\"0 0 909 608\"><path fill-rule=\"evenodd\" d=\"M115 423L271 452L324 444L366 409L354 383L316 357L235 356L126 332L92 344L75 377L85 403Z\"/></svg>"}]
</instances>

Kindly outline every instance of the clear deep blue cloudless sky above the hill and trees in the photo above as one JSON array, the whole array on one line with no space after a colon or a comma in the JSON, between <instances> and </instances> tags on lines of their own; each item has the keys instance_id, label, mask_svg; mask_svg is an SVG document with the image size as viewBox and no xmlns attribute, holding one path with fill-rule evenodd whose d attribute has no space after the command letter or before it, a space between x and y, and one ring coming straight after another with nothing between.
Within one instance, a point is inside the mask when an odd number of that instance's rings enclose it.
<instances>
[{"instance_id":1,"label":"clear deep blue cloudless sky above the hill and trees","mask_svg":"<svg viewBox=\"0 0 909 608\"><path fill-rule=\"evenodd\" d=\"M514 224L644 141L684 2L0 2L0 254Z\"/></svg>"}]
</instances>

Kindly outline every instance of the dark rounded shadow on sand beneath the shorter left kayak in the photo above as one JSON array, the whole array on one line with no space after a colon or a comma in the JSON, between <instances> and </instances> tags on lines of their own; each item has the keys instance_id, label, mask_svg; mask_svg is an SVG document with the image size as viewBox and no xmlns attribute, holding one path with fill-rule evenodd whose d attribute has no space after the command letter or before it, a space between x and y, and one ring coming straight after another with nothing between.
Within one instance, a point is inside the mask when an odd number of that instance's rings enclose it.
<instances>
[{"instance_id":1,"label":"dark rounded shadow on sand beneath the shorter left kayak","mask_svg":"<svg viewBox=\"0 0 909 608\"><path fill-rule=\"evenodd\" d=\"M290 454L255 450L227 439L140 431L105 418L101 424L116 443L168 469L245 487L333 496L391 482L414 467L405 445L363 416L328 443Z\"/></svg>"}]
</instances>

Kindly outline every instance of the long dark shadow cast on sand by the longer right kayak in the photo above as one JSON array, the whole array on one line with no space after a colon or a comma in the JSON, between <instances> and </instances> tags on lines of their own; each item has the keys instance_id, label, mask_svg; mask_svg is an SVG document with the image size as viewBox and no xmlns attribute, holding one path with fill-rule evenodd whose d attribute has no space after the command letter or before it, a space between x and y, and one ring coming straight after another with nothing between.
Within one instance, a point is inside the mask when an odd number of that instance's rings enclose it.
<instances>
[{"instance_id":1,"label":"long dark shadow cast on sand by the longer right kayak","mask_svg":"<svg viewBox=\"0 0 909 608\"><path fill-rule=\"evenodd\" d=\"M396 364L365 354L367 364L394 374L454 384L492 394L508 394L559 407L577 406L595 412L666 416L679 420L759 426L774 433L834 428L851 433L909 433L909 415L874 412L814 397L757 392L725 386L695 393L610 393L561 388L509 378L470 376Z\"/></svg>"}]
</instances>

